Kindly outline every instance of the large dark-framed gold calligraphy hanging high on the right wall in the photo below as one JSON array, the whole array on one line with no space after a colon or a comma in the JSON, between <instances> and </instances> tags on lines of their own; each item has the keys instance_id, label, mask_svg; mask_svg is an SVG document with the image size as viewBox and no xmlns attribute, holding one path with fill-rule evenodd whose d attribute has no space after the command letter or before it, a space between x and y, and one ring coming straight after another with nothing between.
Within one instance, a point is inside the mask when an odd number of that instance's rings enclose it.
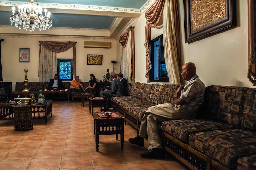
<instances>
[{"instance_id":1,"label":"large dark-framed gold calligraphy hanging high on the right wall","mask_svg":"<svg viewBox=\"0 0 256 170\"><path fill-rule=\"evenodd\" d=\"M236 0L184 0L185 43L236 26Z\"/></svg>"}]
</instances>

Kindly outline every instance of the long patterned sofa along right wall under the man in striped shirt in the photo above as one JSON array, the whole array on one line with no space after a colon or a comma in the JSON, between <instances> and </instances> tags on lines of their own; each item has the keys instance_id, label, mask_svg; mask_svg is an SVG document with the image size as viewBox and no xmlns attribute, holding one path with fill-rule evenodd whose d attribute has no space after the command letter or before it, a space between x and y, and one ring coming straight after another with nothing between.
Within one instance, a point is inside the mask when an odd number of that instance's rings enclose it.
<instances>
[{"instance_id":1,"label":"long patterned sofa along right wall under the man in striped shirt","mask_svg":"<svg viewBox=\"0 0 256 170\"><path fill-rule=\"evenodd\" d=\"M172 102L178 87L127 83L128 96L111 105L139 130L148 107ZM159 132L165 151L190 169L256 169L256 89L208 86L196 119L159 122Z\"/></svg>"}]
</instances>

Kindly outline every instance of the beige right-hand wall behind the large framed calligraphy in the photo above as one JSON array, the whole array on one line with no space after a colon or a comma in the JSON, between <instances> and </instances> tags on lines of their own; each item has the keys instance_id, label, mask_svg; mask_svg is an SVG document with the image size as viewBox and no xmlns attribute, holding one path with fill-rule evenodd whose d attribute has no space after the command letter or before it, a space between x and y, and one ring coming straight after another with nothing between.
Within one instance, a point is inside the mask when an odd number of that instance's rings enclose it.
<instances>
[{"instance_id":1,"label":"beige right-hand wall behind the large framed calligraphy","mask_svg":"<svg viewBox=\"0 0 256 170\"><path fill-rule=\"evenodd\" d=\"M209 85L232 85L253 87L247 79L247 3L236 1L237 26L211 37L185 43L183 1L179 1L181 24L181 62L194 62L197 74ZM147 82L145 78L146 59L144 47L145 14L133 24L135 26L135 69L136 81ZM151 29L151 38L162 34L163 30ZM185 82L182 82L183 84Z\"/></svg>"}]
</instances>

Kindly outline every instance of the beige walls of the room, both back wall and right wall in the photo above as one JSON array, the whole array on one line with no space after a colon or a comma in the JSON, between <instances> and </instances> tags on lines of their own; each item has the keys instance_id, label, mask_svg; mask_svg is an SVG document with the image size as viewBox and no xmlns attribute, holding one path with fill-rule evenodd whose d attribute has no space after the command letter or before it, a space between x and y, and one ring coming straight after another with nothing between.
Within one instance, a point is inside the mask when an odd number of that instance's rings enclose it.
<instances>
[{"instance_id":1,"label":"beige walls of the room, both back wall and right wall","mask_svg":"<svg viewBox=\"0 0 256 170\"><path fill-rule=\"evenodd\" d=\"M253 87L247 79L248 55L247 55L247 3L241 0L236 1L237 5L237 26L211 37L192 42L184 43L184 15L183 1L179 1L180 24L181 24L181 62L194 62L197 66L197 74L209 85L231 85ZM135 33L135 79L136 82L147 82L145 77L145 15L142 14L132 26ZM152 29L152 39L163 33L162 29ZM111 41L111 49L84 48L85 39L63 39L63 38L33 38L4 36L2 48L3 81L24 80L23 69L28 69L28 79L38 81L38 41L76 41L77 75L81 81L88 81L89 74L94 73L100 80L106 74L107 68L113 70L110 62L116 60L116 72L119 72L120 44L116 40ZM102 41L102 40L93 40ZM30 48L30 62L19 63L19 48ZM87 54L103 55L102 66L87 65ZM68 57L72 55L72 49L59 53L58 57ZM185 82L182 82L184 84Z\"/></svg>"}]
</instances>

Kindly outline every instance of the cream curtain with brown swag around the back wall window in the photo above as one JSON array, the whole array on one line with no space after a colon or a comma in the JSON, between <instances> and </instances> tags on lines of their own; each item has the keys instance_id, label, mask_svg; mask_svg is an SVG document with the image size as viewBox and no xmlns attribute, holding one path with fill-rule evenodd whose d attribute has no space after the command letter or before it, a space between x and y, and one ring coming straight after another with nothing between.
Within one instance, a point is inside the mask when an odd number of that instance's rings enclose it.
<instances>
[{"instance_id":1,"label":"cream curtain with brown swag around the back wall window","mask_svg":"<svg viewBox=\"0 0 256 170\"><path fill-rule=\"evenodd\" d=\"M39 41L39 81L50 81L56 72L57 53L73 47L73 75L76 75L76 42Z\"/></svg>"}]
</instances>

